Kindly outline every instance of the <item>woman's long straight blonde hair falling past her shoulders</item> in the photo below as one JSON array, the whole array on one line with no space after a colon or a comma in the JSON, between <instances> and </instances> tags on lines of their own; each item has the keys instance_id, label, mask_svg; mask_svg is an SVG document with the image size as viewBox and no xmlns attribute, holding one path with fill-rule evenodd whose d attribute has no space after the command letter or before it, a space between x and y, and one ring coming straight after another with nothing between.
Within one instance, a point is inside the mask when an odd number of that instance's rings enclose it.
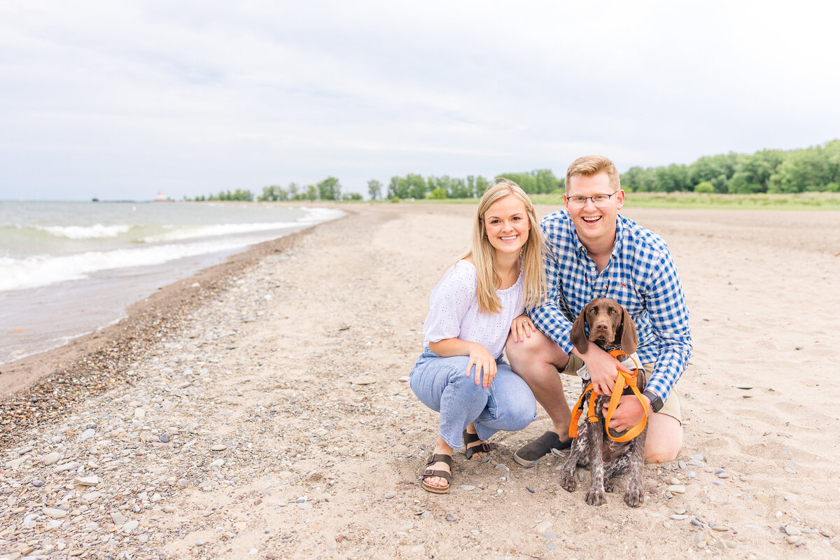
<instances>
[{"instance_id":1,"label":"woman's long straight blonde hair falling past her shoulders","mask_svg":"<svg viewBox=\"0 0 840 560\"><path fill-rule=\"evenodd\" d=\"M545 299L546 282L543 270L543 232L539 228L537 212L533 203L525 191L509 179L498 178L496 184L489 187L475 212L473 222L473 233L470 241L470 248L459 257L466 259L471 257L475 264L475 271L478 276L476 296L478 297L478 309L482 313L500 313L501 301L496 294L496 285L501 284L501 278L496 271L496 250L487 238L484 215L490 207L506 196L516 196L525 205L528 215L528 241L522 247L522 280L523 297L525 307L532 308L539 306ZM457 262L457 261L456 261Z\"/></svg>"}]
</instances>

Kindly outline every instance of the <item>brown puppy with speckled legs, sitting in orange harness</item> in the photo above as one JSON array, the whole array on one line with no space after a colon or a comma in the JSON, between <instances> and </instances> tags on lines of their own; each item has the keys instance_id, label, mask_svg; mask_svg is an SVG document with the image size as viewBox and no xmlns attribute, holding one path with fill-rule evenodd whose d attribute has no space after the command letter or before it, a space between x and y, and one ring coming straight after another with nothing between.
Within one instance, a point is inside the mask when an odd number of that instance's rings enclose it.
<instances>
[{"instance_id":1,"label":"brown puppy with speckled legs, sitting in orange harness","mask_svg":"<svg viewBox=\"0 0 840 560\"><path fill-rule=\"evenodd\" d=\"M585 326L589 327L589 338L586 337ZM596 343L607 352L621 349L622 353L628 356L638 347L638 335L633 319L617 301L609 298L592 300L584 307L572 325L570 341L580 353L586 352L589 343ZM638 390L641 392L647 383L644 369L638 369L636 379ZM585 380L583 383L585 388L589 382ZM623 394L632 394L632 390L626 387ZM590 391L585 404L588 404L593 395ZM627 505L638 507L644 500L642 475L644 441L648 428L645 425L637 437L627 442L614 442L606 437L603 406L609 401L610 397L607 395L596 396L595 411L598 421L589 422L584 419L584 427L581 427L578 436L575 437L569 459L560 471L560 484L564 489L574 491L577 486L575 468L578 465L588 466L591 482L586 493L586 503L601 505L604 503L604 492L612 492L614 488L614 477L629 472L624 501ZM613 437L620 437L625 432L615 432L611 429L610 433Z\"/></svg>"}]
</instances>

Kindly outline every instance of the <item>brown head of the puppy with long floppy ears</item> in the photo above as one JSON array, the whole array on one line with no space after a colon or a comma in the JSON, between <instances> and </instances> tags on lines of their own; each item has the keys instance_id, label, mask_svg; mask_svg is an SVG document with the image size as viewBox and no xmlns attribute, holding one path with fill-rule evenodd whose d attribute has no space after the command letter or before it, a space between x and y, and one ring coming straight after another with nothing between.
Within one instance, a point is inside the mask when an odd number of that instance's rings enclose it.
<instances>
[{"instance_id":1,"label":"brown head of the puppy with long floppy ears","mask_svg":"<svg viewBox=\"0 0 840 560\"><path fill-rule=\"evenodd\" d=\"M586 338L585 327L589 327L589 338ZM621 344L627 354L632 354L638 347L633 319L624 307L608 297L599 297L586 304L575 319L569 338L580 353L586 353L591 342L601 348Z\"/></svg>"}]
</instances>

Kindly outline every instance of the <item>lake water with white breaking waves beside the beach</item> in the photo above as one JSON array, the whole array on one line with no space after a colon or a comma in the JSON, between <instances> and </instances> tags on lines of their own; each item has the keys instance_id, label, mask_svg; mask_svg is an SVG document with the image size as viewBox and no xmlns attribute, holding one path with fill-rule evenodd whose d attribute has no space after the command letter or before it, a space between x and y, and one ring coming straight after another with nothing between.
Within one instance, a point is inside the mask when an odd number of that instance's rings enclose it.
<instances>
[{"instance_id":1,"label":"lake water with white breaking waves beside the beach","mask_svg":"<svg viewBox=\"0 0 840 560\"><path fill-rule=\"evenodd\" d=\"M125 317L160 286L343 212L225 202L0 201L0 364Z\"/></svg>"}]
</instances>

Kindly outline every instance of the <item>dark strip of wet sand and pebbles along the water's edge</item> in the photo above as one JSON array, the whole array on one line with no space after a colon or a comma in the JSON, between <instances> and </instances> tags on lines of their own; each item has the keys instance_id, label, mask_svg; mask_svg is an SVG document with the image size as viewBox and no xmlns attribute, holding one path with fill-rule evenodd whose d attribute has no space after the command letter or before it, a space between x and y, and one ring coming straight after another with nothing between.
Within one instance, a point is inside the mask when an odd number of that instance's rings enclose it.
<instances>
[{"instance_id":1,"label":"dark strip of wet sand and pebbles along the water's edge","mask_svg":"<svg viewBox=\"0 0 840 560\"><path fill-rule=\"evenodd\" d=\"M81 400L130 382L124 367L155 343L155 339L175 332L186 314L225 290L234 275L267 254L294 247L318 225L257 243L222 263L165 285L128 306L126 317L112 325L73 338L59 347L0 365L0 449L13 444L8 434L9 420L18 422L17 429L24 430L34 426L36 418L38 422L50 421L66 414ZM63 385L62 394L50 395L51 385Z\"/></svg>"}]
</instances>

